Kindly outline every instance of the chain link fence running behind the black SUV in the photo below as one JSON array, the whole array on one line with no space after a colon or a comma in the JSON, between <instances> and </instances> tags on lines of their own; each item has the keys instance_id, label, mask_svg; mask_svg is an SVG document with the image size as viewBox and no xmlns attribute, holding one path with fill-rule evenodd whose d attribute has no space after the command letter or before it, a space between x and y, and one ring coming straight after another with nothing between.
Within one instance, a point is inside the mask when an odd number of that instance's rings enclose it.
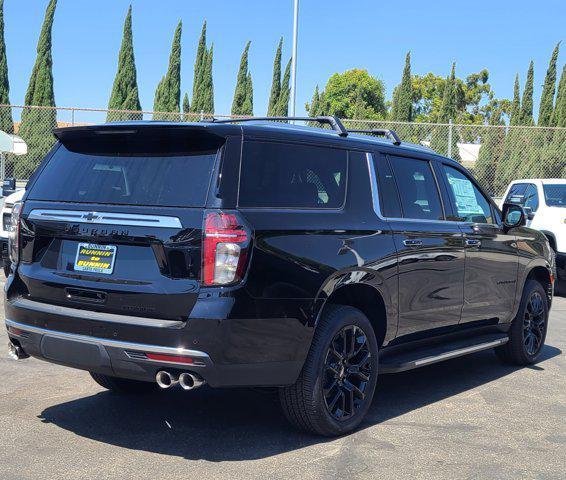
<instances>
[{"instance_id":1,"label":"chain link fence running behind the black SUV","mask_svg":"<svg viewBox=\"0 0 566 480\"><path fill-rule=\"evenodd\" d=\"M106 121L161 120L197 122L210 115L131 112L85 108L0 105L11 113L14 133L28 144L22 156L5 155L5 177L26 180L55 143L51 130ZM217 118L230 118L216 115ZM23 124L22 124L23 121ZM434 123L343 120L349 130L391 129L405 142L421 144L460 161L493 196L503 194L511 180L566 178L566 128L509 127Z\"/></svg>"}]
</instances>

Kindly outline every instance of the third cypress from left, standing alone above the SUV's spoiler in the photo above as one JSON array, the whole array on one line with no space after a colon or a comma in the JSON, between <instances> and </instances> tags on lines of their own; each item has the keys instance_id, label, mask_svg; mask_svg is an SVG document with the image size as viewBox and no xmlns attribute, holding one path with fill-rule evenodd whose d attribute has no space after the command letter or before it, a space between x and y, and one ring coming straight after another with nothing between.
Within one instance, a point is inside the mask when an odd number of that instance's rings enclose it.
<instances>
[{"instance_id":1,"label":"third cypress from left, standing alone above the SUV's spoiler","mask_svg":"<svg viewBox=\"0 0 566 480\"><path fill-rule=\"evenodd\" d=\"M141 110L138 93L136 73L136 60L134 57L134 40L132 34L132 6L128 8L124 22L124 36L118 54L118 71L112 87L112 95L108 102L108 109L115 110ZM141 120L141 113L108 112L106 121Z\"/></svg>"}]
</instances>

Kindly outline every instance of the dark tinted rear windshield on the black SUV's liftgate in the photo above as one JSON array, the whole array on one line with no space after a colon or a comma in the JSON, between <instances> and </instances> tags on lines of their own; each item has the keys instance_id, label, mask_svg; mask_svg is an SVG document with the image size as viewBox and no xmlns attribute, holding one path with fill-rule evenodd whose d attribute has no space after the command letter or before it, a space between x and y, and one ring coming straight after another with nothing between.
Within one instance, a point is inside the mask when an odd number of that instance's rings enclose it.
<instances>
[{"instance_id":1,"label":"dark tinted rear windshield on the black SUV's liftgate","mask_svg":"<svg viewBox=\"0 0 566 480\"><path fill-rule=\"evenodd\" d=\"M203 207L216 150L174 156L96 155L61 145L28 198L73 203Z\"/></svg>"}]
</instances>

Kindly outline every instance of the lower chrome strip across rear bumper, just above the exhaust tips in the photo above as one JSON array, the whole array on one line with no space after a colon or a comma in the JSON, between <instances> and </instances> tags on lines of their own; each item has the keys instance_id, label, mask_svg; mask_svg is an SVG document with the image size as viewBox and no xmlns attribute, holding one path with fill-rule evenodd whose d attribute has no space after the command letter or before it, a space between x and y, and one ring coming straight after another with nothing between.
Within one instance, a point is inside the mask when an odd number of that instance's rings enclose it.
<instances>
[{"instance_id":1,"label":"lower chrome strip across rear bumper, just above the exhaust tips","mask_svg":"<svg viewBox=\"0 0 566 480\"><path fill-rule=\"evenodd\" d=\"M105 347L123 348L125 350L139 350L149 353L164 353L168 355L184 355L187 357L202 358L210 360L210 357L205 352L198 350L189 350L186 348L164 347L161 345L145 345L143 343L123 342L120 340L111 340L109 338L97 338L88 335L79 335L75 333L58 332L55 330L48 330L46 328L25 325L23 323L14 322L13 320L6 319L6 325L9 327L17 328L24 332L37 333L39 335L48 335L50 337L61 338L64 340L72 340L75 342L93 343L103 345Z\"/></svg>"}]
</instances>

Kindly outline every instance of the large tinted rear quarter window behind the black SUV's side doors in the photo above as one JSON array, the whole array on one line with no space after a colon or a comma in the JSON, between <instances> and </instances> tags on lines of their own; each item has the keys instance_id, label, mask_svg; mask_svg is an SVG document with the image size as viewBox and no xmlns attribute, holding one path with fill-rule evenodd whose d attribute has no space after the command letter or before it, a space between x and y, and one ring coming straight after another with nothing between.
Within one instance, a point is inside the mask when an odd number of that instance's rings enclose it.
<instances>
[{"instance_id":1,"label":"large tinted rear quarter window behind the black SUV's side doors","mask_svg":"<svg viewBox=\"0 0 566 480\"><path fill-rule=\"evenodd\" d=\"M240 173L240 207L340 208L348 154L309 145L247 142Z\"/></svg>"}]
</instances>

